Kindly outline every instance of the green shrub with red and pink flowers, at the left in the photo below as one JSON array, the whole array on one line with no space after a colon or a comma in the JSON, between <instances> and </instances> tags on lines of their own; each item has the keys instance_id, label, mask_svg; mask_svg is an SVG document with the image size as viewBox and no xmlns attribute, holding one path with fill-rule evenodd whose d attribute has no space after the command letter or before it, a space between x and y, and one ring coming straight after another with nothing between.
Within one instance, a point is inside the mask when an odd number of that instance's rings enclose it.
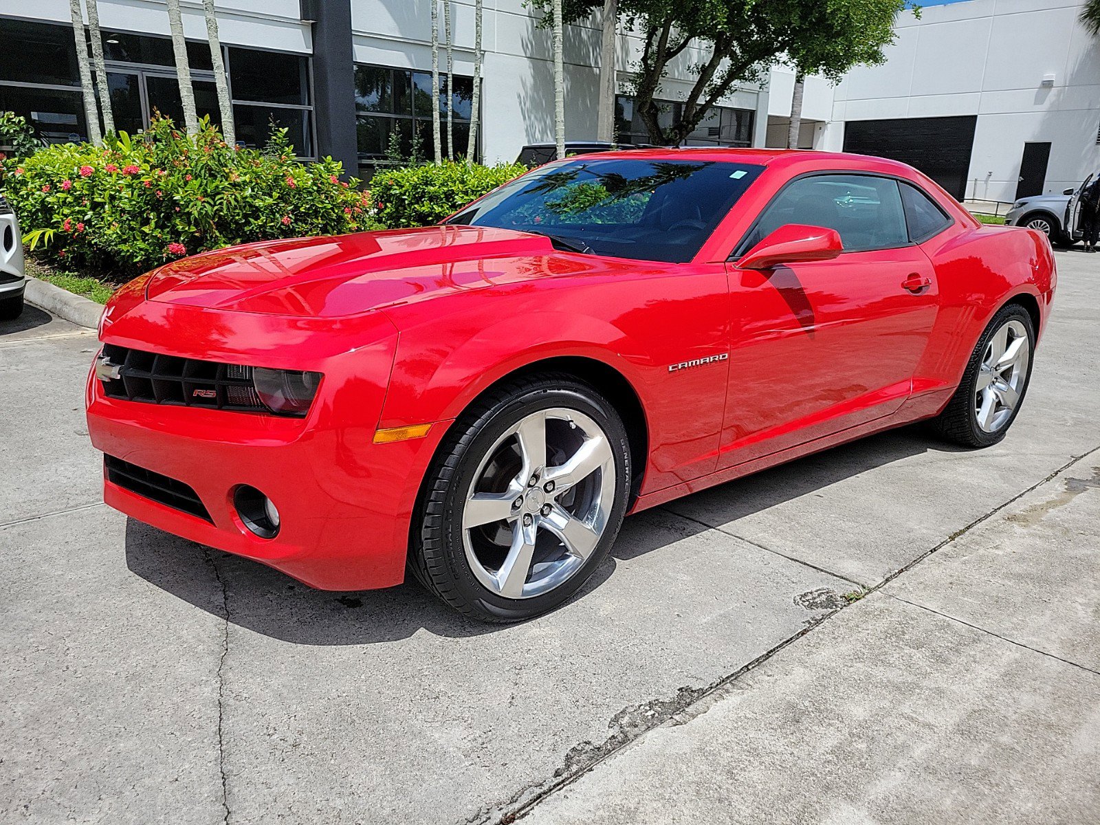
<instances>
[{"instance_id":1,"label":"green shrub with red and pink flowers, at the left","mask_svg":"<svg viewBox=\"0 0 1100 825\"><path fill-rule=\"evenodd\" d=\"M133 274L234 243L374 228L370 196L341 165L294 160L285 130L263 151L160 119L103 146L66 143L3 162L28 246L69 265Z\"/></svg>"}]
</instances>

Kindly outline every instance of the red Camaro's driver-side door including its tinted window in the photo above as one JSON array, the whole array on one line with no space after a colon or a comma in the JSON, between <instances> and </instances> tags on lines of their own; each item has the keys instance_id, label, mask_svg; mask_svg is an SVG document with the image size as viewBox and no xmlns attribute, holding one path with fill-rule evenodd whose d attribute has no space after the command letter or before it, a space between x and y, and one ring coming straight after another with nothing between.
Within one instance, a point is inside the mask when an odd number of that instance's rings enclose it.
<instances>
[{"instance_id":1,"label":"red Camaro's driver-side door including its tinted window","mask_svg":"<svg viewBox=\"0 0 1100 825\"><path fill-rule=\"evenodd\" d=\"M899 183L814 174L765 208L728 264L729 385L718 466L889 416L909 397L939 290L909 237ZM739 270L736 256L787 223L827 227L832 261Z\"/></svg>"}]
</instances>

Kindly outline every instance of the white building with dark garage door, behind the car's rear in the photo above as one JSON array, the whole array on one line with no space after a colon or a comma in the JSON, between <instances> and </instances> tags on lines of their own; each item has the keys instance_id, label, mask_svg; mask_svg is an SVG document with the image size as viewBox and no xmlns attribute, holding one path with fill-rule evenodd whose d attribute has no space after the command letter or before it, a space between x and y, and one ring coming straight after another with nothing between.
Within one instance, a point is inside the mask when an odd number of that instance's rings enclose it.
<instances>
[{"instance_id":1,"label":"white building with dark garage door, behind the car's rear","mask_svg":"<svg viewBox=\"0 0 1100 825\"><path fill-rule=\"evenodd\" d=\"M883 66L806 89L802 145L887 155L959 199L1012 201L1100 166L1100 42L1082 0L966 0L905 12ZM769 145L785 141L789 73L773 73ZM784 108L785 105L785 108ZM780 135L781 133L781 135Z\"/></svg>"}]
</instances>

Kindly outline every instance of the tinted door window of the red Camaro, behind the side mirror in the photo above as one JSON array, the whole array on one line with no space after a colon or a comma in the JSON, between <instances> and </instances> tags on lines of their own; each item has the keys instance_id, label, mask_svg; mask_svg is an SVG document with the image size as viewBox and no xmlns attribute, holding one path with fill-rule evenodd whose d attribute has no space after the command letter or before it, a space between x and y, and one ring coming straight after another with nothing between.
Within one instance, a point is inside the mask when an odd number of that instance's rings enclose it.
<instances>
[{"instance_id":1,"label":"tinted door window of the red Camaro, behind the side mirror","mask_svg":"<svg viewBox=\"0 0 1100 825\"><path fill-rule=\"evenodd\" d=\"M909 244L901 195L891 178L814 175L794 180L768 205L738 254L745 254L787 223L835 229L845 252Z\"/></svg>"}]
</instances>

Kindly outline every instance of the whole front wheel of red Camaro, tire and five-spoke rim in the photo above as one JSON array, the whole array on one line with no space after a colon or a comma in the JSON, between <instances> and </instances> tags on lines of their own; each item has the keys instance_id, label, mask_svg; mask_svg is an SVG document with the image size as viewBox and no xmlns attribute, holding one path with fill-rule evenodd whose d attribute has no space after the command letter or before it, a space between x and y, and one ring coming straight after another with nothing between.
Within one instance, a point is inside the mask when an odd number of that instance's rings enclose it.
<instances>
[{"instance_id":1,"label":"whole front wheel of red Camaro, tire and five-spoke rim","mask_svg":"<svg viewBox=\"0 0 1100 825\"><path fill-rule=\"evenodd\" d=\"M505 386L455 421L441 446L409 565L476 618L551 610L606 558L630 472L623 421L593 387L569 376Z\"/></svg>"}]
</instances>

